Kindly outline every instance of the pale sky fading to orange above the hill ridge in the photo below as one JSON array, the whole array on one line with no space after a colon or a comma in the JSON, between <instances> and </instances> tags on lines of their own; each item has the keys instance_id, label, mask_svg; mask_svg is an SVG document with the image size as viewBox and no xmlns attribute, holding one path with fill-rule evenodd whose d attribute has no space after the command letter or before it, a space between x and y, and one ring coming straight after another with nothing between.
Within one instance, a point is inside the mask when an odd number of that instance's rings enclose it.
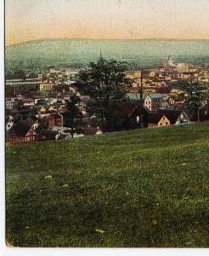
<instances>
[{"instance_id":1,"label":"pale sky fading to orange above the hill ridge","mask_svg":"<svg viewBox=\"0 0 209 256\"><path fill-rule=\"evenodd\" d=\"M208 13L209 0L5 0L5 37L209 39Z\"/></svg>"}]
</instances>

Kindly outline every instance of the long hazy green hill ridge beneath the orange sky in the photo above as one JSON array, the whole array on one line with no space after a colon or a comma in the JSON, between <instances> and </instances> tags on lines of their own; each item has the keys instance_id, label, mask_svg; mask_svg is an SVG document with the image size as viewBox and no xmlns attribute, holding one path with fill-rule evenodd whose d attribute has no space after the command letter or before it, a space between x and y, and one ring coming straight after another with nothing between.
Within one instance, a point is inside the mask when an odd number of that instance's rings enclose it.
<instances>
[{"instance_id":1,"label":"long hazy green hill ridge beneath the orange sky","mask_svg":"<svg viewBox=\"0 0 209 256\"><path fill-rule=\"evenodd\" d=\"M43 39L8 45L6 68L87 66L100 49L105 58L129 61L135 67L155 66L172 55L176 61L209 62L209 40L138 39Z\"/></svg>"}]
</instances>

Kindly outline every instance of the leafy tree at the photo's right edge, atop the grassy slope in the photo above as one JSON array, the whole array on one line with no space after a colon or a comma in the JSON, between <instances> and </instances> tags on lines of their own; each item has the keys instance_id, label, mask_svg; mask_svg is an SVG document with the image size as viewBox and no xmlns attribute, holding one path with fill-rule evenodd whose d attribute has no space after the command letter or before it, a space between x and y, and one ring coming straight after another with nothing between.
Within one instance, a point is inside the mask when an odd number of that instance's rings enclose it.
<instances>
[{"instance_id":1,"label":"leafy tree at the photo's right edge, atop the grassy slope","mask_svg":"<svg viewBox=\"0 0 209 256\"><path fill-rule=\"evenodd\" d=\"M189 84L186 91L188 95L187 103L189 108L195 109L197 121L200 122L201 108L203 108L208 102L208 91L206 90L205 86L199 83Z\"/></svg>"}]
</instances>

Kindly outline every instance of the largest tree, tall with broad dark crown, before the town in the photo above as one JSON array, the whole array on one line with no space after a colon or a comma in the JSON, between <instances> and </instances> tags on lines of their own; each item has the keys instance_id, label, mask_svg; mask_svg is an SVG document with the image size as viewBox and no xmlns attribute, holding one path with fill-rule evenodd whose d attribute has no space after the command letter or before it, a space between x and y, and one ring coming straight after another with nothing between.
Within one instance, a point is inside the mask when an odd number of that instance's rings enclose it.
<instances>
[{"instance_id":1,"label":"largest tree, tall with broad dark crown, before the town","mask_svg":"<svg viewBox=\"0 0 209 256\"><path fill-rule=\"evenodd\" d=\"M108 127L113 104L127 97L130 79L126 70L127 62L107 61L100 56L97 63L90 62L90 67L80 73L78 86L82 94L93 98L103 129L104 125Z\"/></svg>"}]
</instances>

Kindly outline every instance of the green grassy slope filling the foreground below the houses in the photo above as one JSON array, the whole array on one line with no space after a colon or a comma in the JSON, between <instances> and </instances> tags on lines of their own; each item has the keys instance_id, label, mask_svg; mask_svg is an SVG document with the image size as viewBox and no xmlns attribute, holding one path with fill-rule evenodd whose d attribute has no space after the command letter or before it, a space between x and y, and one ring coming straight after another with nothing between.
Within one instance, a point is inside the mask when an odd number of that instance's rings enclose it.
<instances>
[{"instance_id":1,"label":"green grassy slope filling the foreground below the houses","mask_svg":"<svg viewBox=\"0 0 209 256\"><path fill-rule=\"evenodd\" d=\"M9 147L8 242L208 247L208 153L208 123Z\"/></svg>"}]
</instances>

